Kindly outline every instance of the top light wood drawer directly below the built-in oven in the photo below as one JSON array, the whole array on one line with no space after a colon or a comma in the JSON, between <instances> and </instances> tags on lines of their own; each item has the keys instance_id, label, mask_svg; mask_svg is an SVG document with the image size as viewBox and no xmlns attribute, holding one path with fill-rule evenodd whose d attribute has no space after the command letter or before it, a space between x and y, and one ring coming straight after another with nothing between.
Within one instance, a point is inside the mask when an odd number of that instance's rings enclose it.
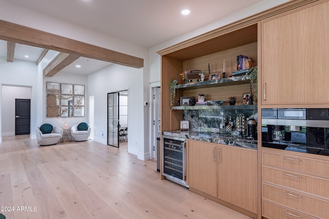
<instances>
[{"instance_id":1,"label":"top light wood drawer directly below the built-in oven","mask_svg":"<svg viewBox=\"0 0 329 219\"><path fill-rule=\"evenodd\" d=\"M262 164L329 178L329 161L262 151Z\"/></svg>"}]
</instances>

